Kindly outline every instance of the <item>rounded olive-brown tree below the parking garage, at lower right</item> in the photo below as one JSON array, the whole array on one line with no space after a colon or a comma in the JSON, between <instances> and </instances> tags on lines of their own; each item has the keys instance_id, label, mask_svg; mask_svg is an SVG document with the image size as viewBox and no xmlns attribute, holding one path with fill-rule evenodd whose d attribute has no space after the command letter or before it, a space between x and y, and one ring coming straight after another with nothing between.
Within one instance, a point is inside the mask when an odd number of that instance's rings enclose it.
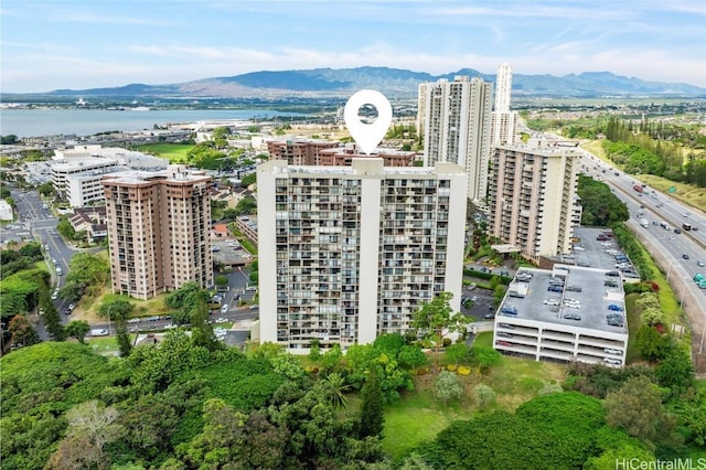
<instances>
[{"instance_id":1,"label":"rounded olive-brown tree below the parking garage, at lower right","mask_svg":"<svg viewBox=\"0 0 706 470\"><path fill-rule=\"evenodd\" d=\"M662 408L662 392L648 377L629 378L606 396L606 423L651 445L670 435L674 423Z\"/></svg>"}]
</instances>

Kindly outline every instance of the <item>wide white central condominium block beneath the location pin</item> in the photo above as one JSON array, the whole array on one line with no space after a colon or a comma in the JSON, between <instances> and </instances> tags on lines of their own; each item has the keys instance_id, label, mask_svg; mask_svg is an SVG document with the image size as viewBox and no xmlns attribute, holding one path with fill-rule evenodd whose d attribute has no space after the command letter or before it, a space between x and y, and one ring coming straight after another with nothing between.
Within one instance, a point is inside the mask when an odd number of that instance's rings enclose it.
<instances>
[{"instance_id":1,"label":"wide white central condominium block beneath the location pin","mask_svg":"<svg viewBox=\"0 0 706 470\"><path fill-rule=\"evenodd\" d=\"M460 306L466 173L452 163L257 169L260 339L307 352L409 328L442 291Z\"/></svg>"}]
</instances>

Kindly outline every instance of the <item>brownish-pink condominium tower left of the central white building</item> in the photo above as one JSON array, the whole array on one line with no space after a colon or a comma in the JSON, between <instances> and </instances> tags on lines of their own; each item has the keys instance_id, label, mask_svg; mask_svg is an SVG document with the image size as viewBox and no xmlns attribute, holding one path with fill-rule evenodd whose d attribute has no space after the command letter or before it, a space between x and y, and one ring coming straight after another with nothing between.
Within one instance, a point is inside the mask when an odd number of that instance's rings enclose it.
<instances>
[{"instance_id":1,"label":"brownish-pink condominium tower left of the central white building","mask_svg":"<svg viewBox=\"0 0 706 470\"><path fill-rule=\"evenodd\" d=\"M210 183L184 171L104 177L114 292L149 299L213 285Z\"/></svg>"}]
</instances>

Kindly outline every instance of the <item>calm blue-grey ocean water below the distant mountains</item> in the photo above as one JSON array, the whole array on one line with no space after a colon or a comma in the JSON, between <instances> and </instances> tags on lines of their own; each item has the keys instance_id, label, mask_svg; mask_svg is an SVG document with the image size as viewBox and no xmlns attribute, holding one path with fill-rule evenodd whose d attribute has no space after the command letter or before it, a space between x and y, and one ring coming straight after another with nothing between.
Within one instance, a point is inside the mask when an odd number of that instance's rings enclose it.
<instances>
[{"instance_id":1,"label":"calm blue-grey ocean water below the distant mountains","mask_svg":"<svg viewBox=\"0 0 706 470\"><path fill-rule=\"evenodd\" d=\"M0 135L41 137L90 136L111 130L152 129L154 125L186 124L218 119L268 119L274 116L302 117L296 113L268 109L156 109L146 111L108 109L0 109Z\"/></svg>"}]
</instances>

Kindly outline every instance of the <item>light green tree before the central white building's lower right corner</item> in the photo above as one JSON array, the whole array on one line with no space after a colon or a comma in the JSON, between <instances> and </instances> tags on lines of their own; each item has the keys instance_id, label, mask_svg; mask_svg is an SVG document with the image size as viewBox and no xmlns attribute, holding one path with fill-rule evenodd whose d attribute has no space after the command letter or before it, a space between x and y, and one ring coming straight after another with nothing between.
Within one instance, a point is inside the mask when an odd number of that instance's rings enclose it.
<instances>
[{"instance_id":1,"label":"light green tree before the central white building's lower right corner","mask_svg":"<svg viewBox=\"0 0 706 470\"><path fill-rule=\"evenodd\" d=\"M417 335L434 341L437 367L443 335L459 330L466 321L461 313L453 313L453 309L451 309L452 296L451 292L441 292L430 302L424 302L411 314L411 328L416 330Z\"/></svg>"}]
</instances>

